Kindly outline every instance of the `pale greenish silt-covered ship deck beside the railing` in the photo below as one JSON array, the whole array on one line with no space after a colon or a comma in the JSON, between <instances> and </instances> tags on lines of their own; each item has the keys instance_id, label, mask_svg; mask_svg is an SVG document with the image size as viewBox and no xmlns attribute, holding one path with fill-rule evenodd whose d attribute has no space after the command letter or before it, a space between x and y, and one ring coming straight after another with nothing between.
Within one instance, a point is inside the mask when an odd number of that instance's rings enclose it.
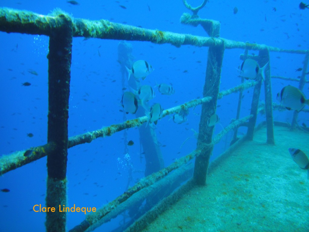
<instances>
[{"instance_id":1,"label":"pale greenish silt-covered ship deck beside the railing","mask_svg":"<svg viewBox=\"0 0 309 232\"><path fill-rule=\"evenodd\" d=\"M194 187L144 232L309 231L309 180L288 148L309 156L309 134L274 127L276 145L266 144L266 128L213 168L207 185Z\"/></svg>"}]
</instances>

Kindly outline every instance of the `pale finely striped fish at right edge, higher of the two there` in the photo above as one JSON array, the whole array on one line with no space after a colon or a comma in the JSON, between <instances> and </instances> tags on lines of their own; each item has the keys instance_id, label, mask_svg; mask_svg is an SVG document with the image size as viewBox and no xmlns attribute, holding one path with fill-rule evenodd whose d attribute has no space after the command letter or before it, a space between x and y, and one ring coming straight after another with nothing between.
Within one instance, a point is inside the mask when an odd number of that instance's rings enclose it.
<instances>
[{"instance_id":1,"label":"pale finely striped fish at right edge, higher of the two there","mask_svg":"<svg viewBox=\"0 0 309 232\"><path fill-rule=\"evenodd\" d=\"M281 92L277 93L276 99L280 101L281 105L286 107L287 110L301 111L305 105L309 105L309 100L306 99L300 89L287 85L281 89Z\"/></svg>"}]
</instances>

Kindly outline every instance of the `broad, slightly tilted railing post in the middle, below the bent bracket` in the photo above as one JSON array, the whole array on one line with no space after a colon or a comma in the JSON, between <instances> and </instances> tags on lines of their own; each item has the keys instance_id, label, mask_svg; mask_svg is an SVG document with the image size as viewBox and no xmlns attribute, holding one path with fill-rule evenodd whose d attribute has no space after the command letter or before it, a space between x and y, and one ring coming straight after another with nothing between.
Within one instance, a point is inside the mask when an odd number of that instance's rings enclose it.
<instances>
[{"instance_id":1,"label":"broad, slightly tilted railing post in the middle, below the bent bracket","mask_svg":"<svg viewBox=\"0 0 309 232\"><path fill-rule=\"evenodd\" d=\"M210 47L208 50L207 69L203 97L211 96L212 101L202 105L201 120L199 125L199 134L197 139L197 149L201 154L195 160L193 178L198 185L206 184L206 177L209 165L209 159L212 154L213 145L212 135L214 126L208 127L208 118L216 113L218 93L220 88L221 68L224 55L224 42L220 45Z\"/></svg>"}]
</instances>

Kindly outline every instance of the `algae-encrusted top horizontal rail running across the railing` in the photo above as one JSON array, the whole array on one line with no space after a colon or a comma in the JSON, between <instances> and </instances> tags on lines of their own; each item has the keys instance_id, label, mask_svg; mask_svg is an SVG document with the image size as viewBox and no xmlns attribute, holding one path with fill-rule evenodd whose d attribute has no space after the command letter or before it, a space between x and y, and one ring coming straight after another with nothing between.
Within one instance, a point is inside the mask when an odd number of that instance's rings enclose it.
<instances>
[{"instance_id":1,"label":"algae-encrusted top horizontal rail running across the railing","mask_svg":"<svg viewBox=\"0 0 309 232\"><path fill-rule=\"evenodd\" d=\"M63 18L70 17L73 27L73 37L87 37L127 41L150 41L156 44L169 43L176 47L193 45L209 47L222 45L226 49L260 50L268 48L273 52L305 54L306 50L288 50L263 44L239 42L224 38L201 37L190 34L180 34L160 30L150 30L131 25L113 23L105 19L88 20L75 19L61 10L54 10L51 15L40 15L31 11L22 11L6 7L0 8L0 31L39 34L49 36L52 28L60 27Z\"/></svg>"}]
</instances>

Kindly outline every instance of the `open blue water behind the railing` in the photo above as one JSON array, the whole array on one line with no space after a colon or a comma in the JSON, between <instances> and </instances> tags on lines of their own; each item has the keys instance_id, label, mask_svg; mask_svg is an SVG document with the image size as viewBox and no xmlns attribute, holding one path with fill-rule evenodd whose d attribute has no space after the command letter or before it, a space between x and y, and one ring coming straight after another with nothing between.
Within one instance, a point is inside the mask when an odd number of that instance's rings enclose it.
<instances>
[{"instance_id":1,"label":"open blue water behind the railing","mask_svg":"<svg viewBox=\"0 0 309 232\"><path fill-rule=\"evenodd\" d=\"M75 18L107 19L143 28L159 29L198 36L207 36L199 27L180 24L180 16L189 12L182 1L86 1L71 5L66 1L9 1L2 0L0 6L29 10L42 15L60 8ZM233 2L233 3L231 3ZM196 6L201 1L189 1ZM298 1L211 1L199 12L201 18L221 22L221 37L236 41L249 41L284 49L308 49L309 9L300 10ZM119 5L123 5L123 9ZM149 6L149 7L148 7ZM233 14L237 6L238 13ZM273 10L276 7L276 11ZM149 10L150 9L150 10ZM0 154L46 144L48 114L48 37L19 33L0 32ZM123 121L120 99L121 72L117 62L117 46L120 41L83 38L73 39L71 92L69 111L69 136L93 131ZM150 42L129 41L133 45L136 60L149 62L155 71L143 82L155 86L156 82L172 83L176 93L172 96L159 95L152 103L160 103L164 109L202 97L207 62L207 48L194 46L156 45ZM100 56L99 56L99 53ZM241 49L226 50L224 54L220 90L240 84L236 68L242 62ZM257 54L257 51L249 53ZM271 75L297 78L303 67L304 55L271 53ZM198 62L197 62L198 61ZM201 61L201 62L200 62ZM34 70L38 75L33 75ZM188 72L184 72L187 70ZM116 80L113 82L113 80ZM30 86L22 86L29 82ZM273 101L277 92L287 84L298 87L296 82L272 80ZM262 86L262 89L264 87ZM157 89L155 88L155 91ZM244 92L241 117L248 115L253 89ZM304 93L309 97L308 85ZM261 92L261 101L264 91ZM218 101L217 114L222 126L235 118L238 94ZM306 106L308 109L308 107ZM169 117L157 125L158 140L162 145L165 166L171 164L196 148L194 132L198 131L201 107L190 109L188 122L176 125ZM128 114L128 119L134 115ZM274 120L291 121L292 112L274 111ZM265 120L264 115L258 122ZM299 114L299 124L309 125L308 116ZM221 130L217 125L215 134ZM246 132L240 129L240 133ZM32 133L33 137L27 134ZM228 135L230 138L231 134ZM192 137L181 147L183 142ZM138 130L128 131L128 140L134 182L143 177L144 159L140 159ZM229 142L228 142L229 143ZM224 142L214 148L214 157L223 151ZM123 132L111 137L99 138L91 144L78 145L69 149L68 155L68 204L79 207L100 208L126 190L128 168L124 161ZM0 178L0 230L43 231L44 213L35 213L35 204L45 204L46 157L4 174ZM131 186L134 184L131 182ZM71 229L85 216L69 213L67 228ZM106 229L114 228L115 221ZM27 229L26 229L27 228Z\"/></svg>"}]
</instances>

